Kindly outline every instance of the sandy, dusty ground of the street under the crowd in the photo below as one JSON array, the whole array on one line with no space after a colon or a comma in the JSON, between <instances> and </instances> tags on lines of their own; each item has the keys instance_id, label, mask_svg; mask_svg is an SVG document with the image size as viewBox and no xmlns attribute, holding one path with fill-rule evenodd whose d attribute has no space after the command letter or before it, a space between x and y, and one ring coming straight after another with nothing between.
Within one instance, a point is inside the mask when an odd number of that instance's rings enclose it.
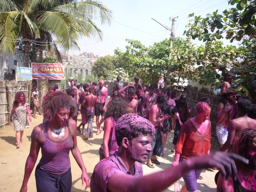
<instances>
[{"instance_id":1,"label":"sandy, dusty ground of the street under the crowd","mask_svg":"<svg viewBox=\"0 0 256 192\"><path fill-rule=\"evenodd\" d=\"M23 135L23 143L20 145L19 149L16 149L16 139L15 132L13 130L13 126L7 126L4 129L0 130L0 180L2 184L0 185L0 191L19 191L23 175L24 175L24 167L25 162L29 153L30 148L30 134L34 126L40 124L43 121L43 117L38 115L37 119L32 117L32 122L30 123L31 128L24 130ZM78 116L77 124L81 123L81 115ZM87 125L86 125L87 127ZM89 177L91 177L94 166L99 162L99 148L102 144L103 132L100 135L96 135L97 132L96 124L93 123L93 131L94 137L93 139L89 139L87 141L83 140L83 135L77 135L77 143L78 147L81 151L85 167L87 168L87 172ZM171 165L173 161L174 153L171 152L173 147L172 145L173 132L169 133L167 144L164 149L165 156L159 157L158 160L161 162L160 165L155 165L155 169L151 169L147 167L146 164L142 164L144 175L149 174L156 171L161 171L165 167ZM216 150L218 145L216 145L217 141L214 138L212 139L212 149ZM36 165L38 164L41 158L41 152L39 152L38 159ZM74 192L84 191L82 186L82 182L80 179L81 170L76 164L75 159L70 153L71 160L71 172L72 172L72 190ZM216 185L214 183L214 176L216 174L216 170L207 169L205 173L202 173L203 180L198 181L199 191L203 192L213 192L216 191ZM170 173L171 174L171 173ZM174 173L175 174L175 173ZM180 179L180 184L183 184L182 178ZM165 192L173 191L173 185L170 186ZM30 179L28 181L28 191L36 191L36 181L35 181L35 169L33 170ZM86 191L90 191L88 188Z\"/></svg>"}]
</instances>

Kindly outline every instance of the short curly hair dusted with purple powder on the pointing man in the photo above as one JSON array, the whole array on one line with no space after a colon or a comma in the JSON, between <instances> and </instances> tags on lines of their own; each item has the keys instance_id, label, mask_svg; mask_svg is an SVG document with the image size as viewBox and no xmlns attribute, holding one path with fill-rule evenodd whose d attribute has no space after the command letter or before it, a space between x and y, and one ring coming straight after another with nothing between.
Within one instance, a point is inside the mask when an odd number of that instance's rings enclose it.
<instances>
[{"instance_id":1,"label":"short curly hair dusted with purple powder on the pointing man","mask_svg":"<svg viewBox=\"0 0 256 192\"><path fill-rule=\"evenodd\" d=\"M132 141L133 138L140 134L153 136L156 130L152 123L147 119L140 117L134 113L121 116L116 122L116 142L121 146L123 138Z\"/></svg>"}]
</instances>

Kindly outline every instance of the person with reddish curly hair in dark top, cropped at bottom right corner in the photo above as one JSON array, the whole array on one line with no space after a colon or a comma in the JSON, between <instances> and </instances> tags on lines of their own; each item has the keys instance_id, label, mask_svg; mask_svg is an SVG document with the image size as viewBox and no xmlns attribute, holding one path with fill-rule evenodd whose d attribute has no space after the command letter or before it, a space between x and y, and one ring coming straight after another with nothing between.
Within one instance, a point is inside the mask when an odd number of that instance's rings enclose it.
<instances>
[{"instance_id":1,"label":"person with reddish curly hair in dark top, cropped at bottom right corner","mask_svg":"<svg viewBox=\"0 0 256 192\"><path fill-rule=\"evenodd\" d=\"M235 160L236 178L222 178L220 172L215 175L217 192L256 191L256 130L244 129L236 134L232 152L249 160L248 164Z\"/></svg>"}]
</instances>

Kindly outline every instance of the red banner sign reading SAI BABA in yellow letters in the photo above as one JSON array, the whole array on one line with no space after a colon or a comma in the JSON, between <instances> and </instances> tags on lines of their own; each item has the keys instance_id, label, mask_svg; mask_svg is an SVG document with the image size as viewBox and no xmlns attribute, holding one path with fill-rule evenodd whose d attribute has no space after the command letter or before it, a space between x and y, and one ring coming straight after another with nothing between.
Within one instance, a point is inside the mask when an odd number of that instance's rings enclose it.
<instances>
[{"instance_id":1,"label":"red banner sign reading SAI BABA in yellow letters","mask_svg":"<svg viewBox=\"0 0 256 192\"><path fill-rule=\"evenodd\" d=\"M59 63L32 63L33 79L65 79L64 65Z\"/></svg>"}]
</instances>

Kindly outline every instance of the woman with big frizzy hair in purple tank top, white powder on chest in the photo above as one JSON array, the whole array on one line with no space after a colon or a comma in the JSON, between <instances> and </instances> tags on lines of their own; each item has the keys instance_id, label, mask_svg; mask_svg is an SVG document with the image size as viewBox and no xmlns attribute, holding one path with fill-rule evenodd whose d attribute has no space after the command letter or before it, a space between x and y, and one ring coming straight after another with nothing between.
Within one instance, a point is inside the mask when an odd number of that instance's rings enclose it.
<instances>
[{"instance_id":1,"label":"woman with big frizzy hair in purple tank top, white powder on chest","mask_svg":"<svg viewBox=\"0 0 256 192\"><path fill-rule=\"evenodd\" d=\"M43 105L47 121L34 127L30 152L26 161L20 191L27 191L28 179L36 164L41 148L42 158L36 166L37 191L71 191L72 176L69 151L82 169L82 185L89 185L89 177L76 141L76 102L66 93L58 91L46 97Z\"/></svg>"}]
</instances>

